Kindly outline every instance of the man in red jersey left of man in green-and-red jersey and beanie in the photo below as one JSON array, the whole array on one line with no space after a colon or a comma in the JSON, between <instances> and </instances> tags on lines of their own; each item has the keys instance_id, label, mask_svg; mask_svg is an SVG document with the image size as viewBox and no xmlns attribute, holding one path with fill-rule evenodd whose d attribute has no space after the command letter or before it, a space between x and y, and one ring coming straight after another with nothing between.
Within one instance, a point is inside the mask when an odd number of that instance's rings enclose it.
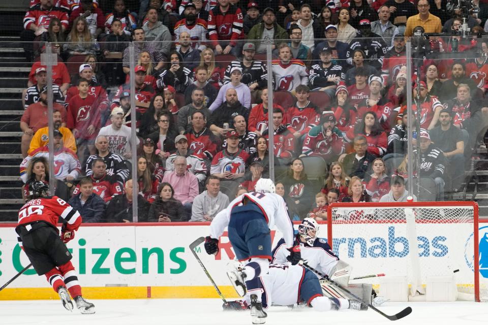
<instances>
[{"instance_id":1,"label":"man in red jersey left of man in green-and-red jersey and beanie","mask_svg":"<svg viewBox=\"0 0 488 325\"><path fill-rule=\"evenodd\" d=\"M278 108L273 109L273 152L275 157L284 159L283 163L288 163L295 155L294 133L295 130L290 124L283 124L283 112ZM263 137L268 140L269 128L263 132Z\"/></svg>"}]
</instances>

